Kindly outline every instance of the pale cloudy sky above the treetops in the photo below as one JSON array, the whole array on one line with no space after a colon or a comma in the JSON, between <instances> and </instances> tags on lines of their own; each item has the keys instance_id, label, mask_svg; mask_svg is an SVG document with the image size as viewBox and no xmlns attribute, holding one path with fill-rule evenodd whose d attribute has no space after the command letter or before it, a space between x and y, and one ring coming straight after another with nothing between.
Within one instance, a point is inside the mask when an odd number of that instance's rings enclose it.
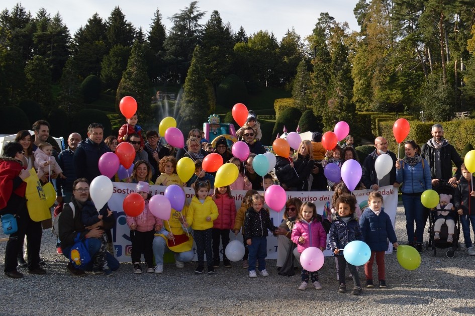
<instances>
[{"instance_id":1,"label":"pale cloudy sky above the treetops","mask_svg":"<svg viewBox=\"0 0 475 316\"><path fill-rule=\"evenodd\" d=\"M3 0L1 10L11 10L18 0ZM169 17L188 7L192 0L23 0L21 5L33 17L40 8L53 17L57 12L63 23L68 27L71 36L94 13L107 20L116 6L119 6L127 21L137 29L142 26L147 32L158 9L162 15L162 23L167 31L172 24ZM337 22L348 22L351 30L359 30L353 9L358 0L201 0L198 7L206 11L201 24L206 24L213 10L218 10L224 23L230 22L234 32L242 26L249 36L259 30L273 32L278 41L287 30L294 27L297 34L304 39L312 33L317 19L322 12L328 12Z\"/></svg>"}]
</instances>

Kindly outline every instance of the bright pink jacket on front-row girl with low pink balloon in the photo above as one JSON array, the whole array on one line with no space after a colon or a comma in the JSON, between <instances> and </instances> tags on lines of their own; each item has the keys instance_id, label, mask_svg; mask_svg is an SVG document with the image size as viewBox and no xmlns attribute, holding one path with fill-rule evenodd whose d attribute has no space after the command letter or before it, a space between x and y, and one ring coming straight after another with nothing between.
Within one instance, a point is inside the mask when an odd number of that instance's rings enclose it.
<instances>
[{"instance_id":1,"label":"bright pink jacket on front-row girl with low pink balloon","mask_svg":"<svg viewBox=\"0 0 475 316\"><path fill-rule=\"evenodd\" d=\"M301 236L305 238L304 243L299 242ZM296 221L291 239L297 244L299 253L302 253L308 247L327 247L327 234L317 219L311 223L307 223L304 219Z\"/></svg>"}]
</instances>

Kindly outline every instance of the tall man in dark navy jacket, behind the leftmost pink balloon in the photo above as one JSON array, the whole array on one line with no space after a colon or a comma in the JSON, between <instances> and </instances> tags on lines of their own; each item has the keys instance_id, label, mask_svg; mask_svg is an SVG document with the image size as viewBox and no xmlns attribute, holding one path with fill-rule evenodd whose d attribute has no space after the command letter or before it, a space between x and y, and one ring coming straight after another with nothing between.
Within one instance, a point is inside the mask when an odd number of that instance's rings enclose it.
<instances>
[{"instance_id":1,"label":"tall man in dark navy jacket, behind the leftmost pink balloon","mask_svg":"<svg viewBox=\"0 0 475 316\"><path fill-rule=\"evenodd\" d=\"M92 123L87 128L87 138L81 141L73 156L76 177L92 181L100 176L99 158L111 150L104 142L104 127L99 123Z\"/></svg>"}]
</instances>

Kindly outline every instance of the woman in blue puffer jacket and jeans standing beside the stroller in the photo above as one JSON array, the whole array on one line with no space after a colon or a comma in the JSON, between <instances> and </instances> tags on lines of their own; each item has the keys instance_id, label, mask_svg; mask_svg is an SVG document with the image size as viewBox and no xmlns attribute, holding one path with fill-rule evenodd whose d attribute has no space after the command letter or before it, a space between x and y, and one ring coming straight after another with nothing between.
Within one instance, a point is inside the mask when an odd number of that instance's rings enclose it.
<instances>
[{"instance_id":1,"label":"woman in blue puffer jacket and jeans standing beside the stroller","mask_svg":"<svg viewBox=\"0 0 475 316\"><path fill-rule=\"evenodd\" d=\"M424 235L424 206L421 202L422 192L432 188L428 162L417 153L417 144L407 141L404 144L406 156L396 161L396 181L402 183L404 212L406 213L406 230L409 245L422 253ZM416 245L414 245L414 221L416 222Z\"/></svg>"}]
</instances>

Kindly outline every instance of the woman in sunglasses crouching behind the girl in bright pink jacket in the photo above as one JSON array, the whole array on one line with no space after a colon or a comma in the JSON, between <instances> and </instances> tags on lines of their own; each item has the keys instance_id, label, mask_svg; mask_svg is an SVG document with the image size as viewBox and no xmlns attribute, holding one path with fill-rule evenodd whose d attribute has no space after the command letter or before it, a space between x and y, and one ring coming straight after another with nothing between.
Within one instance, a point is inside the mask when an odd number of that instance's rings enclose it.
<instances>
[{"instance_id":1,"label":"woman in sunglasses crouching behind the girl in bright pink jacket","mask_svg":"<svg viewBox=\"0 0 475 316\"><path fill-rule=\"evenodd\" d=\"M291 248L292 229L294 229L295 220L299 214L302 201L297 197L289 198L286 202L286 210L283 212L283 220L279 227L274 231L277 235L277 269L280 270L286 261L287 253ZM298 260L297 260L298 262Z\"/></svg>"}]
</instances>

